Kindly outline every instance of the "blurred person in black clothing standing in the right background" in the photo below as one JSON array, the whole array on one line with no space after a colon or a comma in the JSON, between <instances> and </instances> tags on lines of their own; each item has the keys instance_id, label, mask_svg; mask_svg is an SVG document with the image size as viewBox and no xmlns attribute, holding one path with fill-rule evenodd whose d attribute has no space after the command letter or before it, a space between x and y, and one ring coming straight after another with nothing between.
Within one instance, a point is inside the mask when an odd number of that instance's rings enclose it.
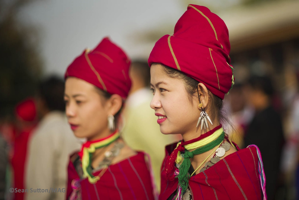
<instances>
[{"instance_id":1,"label":"blurred person in black clothing standing in the right background","mask_svg":"<svg viewBox=\"0 0 299 200\"><path fill-rule=\"evenodd\" d=\"M282 120L272 105L274 87L268 76L251 76L246 85L246 98L255 110L245 133L244 144L257 145L263 156L268 199L275 197L284 143Z\"/></svg>"}]
</instances>

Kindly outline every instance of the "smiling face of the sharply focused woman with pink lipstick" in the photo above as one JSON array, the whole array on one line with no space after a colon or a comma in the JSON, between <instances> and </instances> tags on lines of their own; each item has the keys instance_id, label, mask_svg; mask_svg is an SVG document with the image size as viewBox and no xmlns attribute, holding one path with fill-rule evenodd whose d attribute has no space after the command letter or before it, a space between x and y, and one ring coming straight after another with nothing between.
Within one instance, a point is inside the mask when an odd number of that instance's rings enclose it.
<instances>
[{"instance_id":1,"label":"smiling face of the sharply focused woman with pink lipstick","mask_svg":"<svg viewBox=\"0 0 299 200\"><path fill-rule=\"evenodd\" d=\"M158 116L163 134L185 134L196 130L199 110L190 102L183 80L171 78L161 64L154 63L150 69L151 89L154 97L150 107ZM193 98L195 102L196 98Z\"/></svg>"}]
</instances>

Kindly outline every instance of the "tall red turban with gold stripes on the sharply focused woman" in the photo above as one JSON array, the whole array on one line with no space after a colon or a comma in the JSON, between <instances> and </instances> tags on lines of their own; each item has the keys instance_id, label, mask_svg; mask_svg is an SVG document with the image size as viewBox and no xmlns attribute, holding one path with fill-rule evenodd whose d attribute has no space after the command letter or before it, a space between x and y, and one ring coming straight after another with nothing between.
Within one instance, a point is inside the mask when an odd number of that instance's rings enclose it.
<instances>
[{"instance_id":1,"label":"tall red turban with gold stripes on the sharply focused woman","mask_svg":"<svg viewBox=\"0 0 299 200\"><path fill-rule=\"evenodd\" d=\"M234 83L228 29L207 7L188 5L173 35L164 35L149 55L149 66L160 63L203 83L224 98Z\"/></svg>"}]
</instances>

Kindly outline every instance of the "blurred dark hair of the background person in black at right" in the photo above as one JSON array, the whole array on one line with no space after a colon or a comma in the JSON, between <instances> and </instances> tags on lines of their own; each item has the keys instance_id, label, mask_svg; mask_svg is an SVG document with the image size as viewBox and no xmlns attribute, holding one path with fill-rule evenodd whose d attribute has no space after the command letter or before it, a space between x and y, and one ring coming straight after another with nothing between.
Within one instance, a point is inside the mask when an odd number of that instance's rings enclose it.
<instances>
[{"instance_id":1,"label":"blurred dark hair of the background person in black at right","mask_svg":"<svg viewBox=\"0 0 299 200\"><path fill-rule=\"evenodd\" d=\"M255 90L261 90L269 97L274 95L274 88L269 76L251 76L248 80L248 84Z\"/></svg>"}]
</instances>

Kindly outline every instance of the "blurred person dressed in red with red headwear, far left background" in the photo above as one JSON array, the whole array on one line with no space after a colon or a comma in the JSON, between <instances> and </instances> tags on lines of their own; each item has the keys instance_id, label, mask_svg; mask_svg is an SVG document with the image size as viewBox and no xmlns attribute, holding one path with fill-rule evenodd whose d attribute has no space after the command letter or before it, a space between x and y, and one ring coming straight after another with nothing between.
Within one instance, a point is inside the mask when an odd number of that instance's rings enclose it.
<instances>
[{"instance_id":1,"label":"blurred person dressed in red with red headwear, far left background","mask_svg":"<svg viewBox=\"0 0 299 200\"><path fill-rule=\"evenodd\" d=\"M32 135L33 129L37 124L36 106L32 98L20 102L15 109L16 128L15 137L12 146L11 165L13 168L14 188L26 189L25 181L25 163L28 157L27 146ZM14 199L23 200L25 193L13 193Z\"/></svg>"}]
</instances>

